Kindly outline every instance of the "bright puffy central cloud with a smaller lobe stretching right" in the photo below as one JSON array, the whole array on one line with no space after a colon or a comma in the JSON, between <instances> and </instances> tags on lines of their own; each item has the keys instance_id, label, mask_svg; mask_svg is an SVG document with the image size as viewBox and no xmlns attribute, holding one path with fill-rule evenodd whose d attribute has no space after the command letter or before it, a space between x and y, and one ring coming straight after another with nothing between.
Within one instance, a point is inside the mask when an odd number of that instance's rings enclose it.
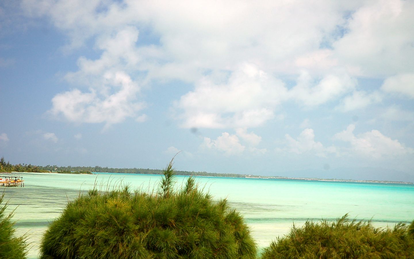
<instances>
[{"instance_id":1,"label":"bright puffy central cloud with a smaller lobe stretching right","mask_svg":"<svg viewBox=\"0 0 414 259\"><path fill-rule=\"evenodd\" d=\"M240 65L224 82L205 76L195 90L175 102L185 128L249 128L274 119L278 107L294 100L305 107L325 104L354 89L347 74L332 74L320 80L303 71L297 84L285 84L251 63Z\"/></svg>"}]
</instances>

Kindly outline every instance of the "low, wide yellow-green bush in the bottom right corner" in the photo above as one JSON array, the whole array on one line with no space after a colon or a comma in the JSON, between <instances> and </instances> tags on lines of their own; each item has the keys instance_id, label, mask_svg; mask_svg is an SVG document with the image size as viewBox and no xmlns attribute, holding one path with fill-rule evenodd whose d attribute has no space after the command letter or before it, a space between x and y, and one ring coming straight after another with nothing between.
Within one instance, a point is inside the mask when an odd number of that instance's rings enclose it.
<instances>
[{"instance_id":1,"label":"low, wide yellow-green bush in the bottom right corner","mask_svg":"<svg viewBox=\"0 0 414 259\"><path fill-rule=\"evenodd\" d=\"M392 229L374 228L369 221L349 220L347 215L333 223L306 221L262 254L262 259L276 258L414 258L414 221Z\"/></svg>"}]
</instances>

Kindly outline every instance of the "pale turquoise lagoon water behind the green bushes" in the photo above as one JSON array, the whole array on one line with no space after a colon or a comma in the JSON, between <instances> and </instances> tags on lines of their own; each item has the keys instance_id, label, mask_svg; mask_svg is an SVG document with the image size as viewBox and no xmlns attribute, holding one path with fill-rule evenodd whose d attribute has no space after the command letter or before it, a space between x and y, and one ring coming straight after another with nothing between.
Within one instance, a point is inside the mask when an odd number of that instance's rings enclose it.
<instances>
[{"instance_id":1,"label":"pale turquoise lagoon water behind the green bushes","mask_svg":"<svg viewBox=\"0 0 414 259\"><path fill-rule=\"evenodd\" d=\"M37 258L48 223L58 217L68 200L95 184L103 189L130 184L152 190L161 176L144 174L41 174L22 173L24 188L6 188L9 211L16 208L17 235L29 234L29 258ZM177 176L177 186L186 177ZM244 216L260 248L285 235L294 222L334 220L345 213L369 220L377 227L414 219L414 185L321 182L279 179L196 177L199 186L215 199L227 198Z\"/></svg>"}]
</instances>

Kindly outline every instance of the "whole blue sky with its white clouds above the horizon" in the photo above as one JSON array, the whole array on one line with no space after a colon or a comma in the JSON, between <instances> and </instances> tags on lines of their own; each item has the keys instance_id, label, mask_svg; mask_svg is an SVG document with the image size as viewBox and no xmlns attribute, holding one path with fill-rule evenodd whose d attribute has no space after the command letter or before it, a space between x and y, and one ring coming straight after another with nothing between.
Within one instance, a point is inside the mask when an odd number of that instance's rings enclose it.
<instances>
[{"instance_id":1,"label":"whole blue sky with its white clouds above the horizon","mask_svg":"<svg viewBox=\"0 0 414 259\"><path fill-rule=\"evenodd\" d=\"M414 1L0 1L12 164L414 182Z\"/></svg>"}]
</instances>

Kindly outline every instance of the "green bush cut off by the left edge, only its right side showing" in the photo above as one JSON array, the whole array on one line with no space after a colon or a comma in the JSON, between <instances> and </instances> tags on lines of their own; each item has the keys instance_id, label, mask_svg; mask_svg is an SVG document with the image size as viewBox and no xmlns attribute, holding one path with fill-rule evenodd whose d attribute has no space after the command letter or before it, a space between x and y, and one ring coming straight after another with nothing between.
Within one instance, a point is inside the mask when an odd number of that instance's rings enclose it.
<instances>
[{"instance_id":1,"label":"green bush cut off by the left edge, only its right side showing","mask_svg":"<svg viewBox=\"0 0 414 259\"><path fill-rule=\"evenodd\" d=\"M4 192L0 197L3 204ZM26 236L14 237L13 213L6 215L7 202L0 207L0 258L21 259L26 258Z\"/></svg>"}]
</instances>

